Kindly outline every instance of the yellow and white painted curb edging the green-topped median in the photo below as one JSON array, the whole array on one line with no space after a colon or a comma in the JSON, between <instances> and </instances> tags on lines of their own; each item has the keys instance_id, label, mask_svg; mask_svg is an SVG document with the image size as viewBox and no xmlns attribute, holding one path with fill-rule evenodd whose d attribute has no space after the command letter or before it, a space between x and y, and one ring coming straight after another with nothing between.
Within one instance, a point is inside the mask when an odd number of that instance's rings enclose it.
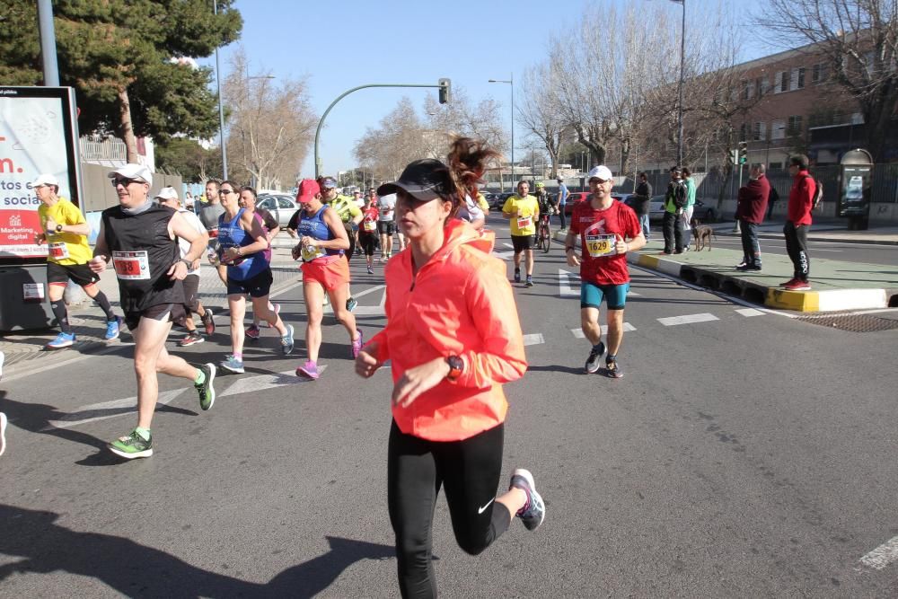
<instances>
[{"instance_id":1,"label":"yellow and white painted curb edging the green-topped median","mask_svg":"<svg viewBox=\"0 0 898 599\"><path fill-rule=\"evenodd\" d=\"M563 242L565 235L555 233ZM575 244L580 247L580 240ZM795 312L836 312L842 310L872 310L889 307L889 298L898 294L895 289L827 289L823 291L787 291L781 287L763 286L735 274L697 267L678 262L667 256L632 251L627 261L635 266L655 270L687 283L704 286L726 295L735 295L753 304Z\"/></svg>"}]
</instances>

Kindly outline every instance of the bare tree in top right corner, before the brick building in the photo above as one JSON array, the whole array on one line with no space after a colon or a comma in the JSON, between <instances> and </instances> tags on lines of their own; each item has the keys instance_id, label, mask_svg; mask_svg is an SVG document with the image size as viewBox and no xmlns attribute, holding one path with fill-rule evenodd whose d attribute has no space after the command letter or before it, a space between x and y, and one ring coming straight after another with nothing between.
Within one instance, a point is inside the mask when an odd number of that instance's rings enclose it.
<instances>
[{"instance_id":1,"label":"bare tree in top right corner, before the brick building","mask_svg":"<svg viewBox=\"0 0 898 599\"><path fill-rule=\"evenodd\" d=\"M867 149L882 159L898 105L898 2L770 0L758 22L826 57L834 80L858 101Z\"/></svg>"}]
</instances>

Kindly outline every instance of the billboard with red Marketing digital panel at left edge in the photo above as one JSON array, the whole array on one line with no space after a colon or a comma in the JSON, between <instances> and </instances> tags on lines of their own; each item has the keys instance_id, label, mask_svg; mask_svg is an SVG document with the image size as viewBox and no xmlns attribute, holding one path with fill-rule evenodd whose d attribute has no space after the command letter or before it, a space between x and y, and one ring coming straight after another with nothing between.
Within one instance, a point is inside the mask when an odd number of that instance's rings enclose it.
<instances>
[{"instance_id":1,"label":"billboard with red Marketing digital panel at left edge","mask_svg":"<svg viewBox=\"0 0 898 599\"><path fill-rule=\"evenodd\" d=\"M77 147L72 88L0 86L0 265L46 260L31 181L56 176L58 195L80 206Z\"/></svg>"}]
</instances>

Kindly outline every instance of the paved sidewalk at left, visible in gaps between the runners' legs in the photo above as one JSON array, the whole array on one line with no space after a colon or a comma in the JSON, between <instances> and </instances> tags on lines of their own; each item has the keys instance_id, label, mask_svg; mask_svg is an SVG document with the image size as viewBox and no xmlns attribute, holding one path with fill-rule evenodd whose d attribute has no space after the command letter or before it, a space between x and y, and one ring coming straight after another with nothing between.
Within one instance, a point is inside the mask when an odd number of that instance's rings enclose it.
<instances>
[{"instance_id":1,"label":"paved sidewalk at left, visible in gaps between the runners' legs","mask_svg":"<svg viewBox=\"0 0 898 599\"><path fill-rule=\"evenodd\" d=\"M284 238L281 240L278 235L271 256L271 274L274 277L274 282L271 285L272 294L293 285L301 278L299 265L290 257L290 248L295 245L295 242L291 242L286 234ZM200 269L199 298L203 305L211 308L217 317L220 313L227 313L225 284L218 278L216 269L208 265L205 256L202 260L205 263ZM102 275L98 285L109 297L110 304L120 316L119 283L111 268ZM40 332L0 335L0 351L6 355L5 364L12 366L7 371L8 374L31 370L31 368L52 364L54 361L67 361L73 357L75 352L92 353L121 343L121 338L114 341L103 339L103 335L106 333L106 315L86 295L84 295L83 303L72 304L68 306L68 310L69 322L72 324L76 338L75 344L71 348L57 351L44 350L44 346L56 337L57 328ZM198 327L202 329L202 323L199 322L196 315L194 315L194 322L197 322ZM221 321L219 320L218 323ZM124 325L122 326L122 337L128 341L131 339L128 328ZM72 349L75 352L71 351Z\"/></svg>"}]
</instances>

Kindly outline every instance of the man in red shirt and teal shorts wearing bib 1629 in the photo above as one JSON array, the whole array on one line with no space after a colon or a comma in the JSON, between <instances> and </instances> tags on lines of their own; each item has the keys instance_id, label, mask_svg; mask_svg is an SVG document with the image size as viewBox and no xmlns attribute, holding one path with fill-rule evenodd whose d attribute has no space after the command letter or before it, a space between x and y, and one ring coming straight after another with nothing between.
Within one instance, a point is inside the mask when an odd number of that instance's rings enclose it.
<instances>
[{"instance_id":1,"label":"man in red shirt and teal shorts wearing bib 1629","mask_svg":"<svg viewBox=\"0 0 898 599\"><path fill-rule=\"evenodd\" d=\"M580 267L580 327L593 345L586 358L585 370L593 374L599 370L599 359L605 352L599 308L604 298L607 305L608 357L605 374L621 378L623 371L617 353L623 340L623 309L629 291L627 252L646 244L633 209L612 198L612 172L606 166L596 166L589 172L588 202L574 206L565 238L568 266ZM580 256L574 245L580 237Z\"/></svg>"}]
</instances>

